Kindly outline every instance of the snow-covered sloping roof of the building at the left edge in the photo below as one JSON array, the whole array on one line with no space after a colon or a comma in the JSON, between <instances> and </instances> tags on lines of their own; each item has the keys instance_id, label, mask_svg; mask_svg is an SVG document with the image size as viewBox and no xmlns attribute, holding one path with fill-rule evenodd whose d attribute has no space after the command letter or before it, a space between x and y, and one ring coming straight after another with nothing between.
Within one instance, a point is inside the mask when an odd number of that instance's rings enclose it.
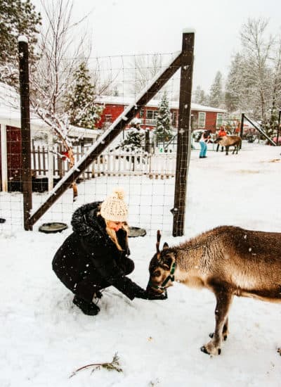
<instances>
[{"instance_id":1,"label":"snow-covered sloping roof of the building at the left edge","mask_svg":"<svg viewBox=\"0 0 281 387\"><path fill-rule=\"evenodd\" d=\"M8 84L0 82L0 124L12 127L20 127L20 95ZM49 132L50 127L30 112L30 129L32 134L37 132ZM70 137L93 138L100 134L98 129L85 129L81 127L70 127Z\"/></svg>"}]
</instances>

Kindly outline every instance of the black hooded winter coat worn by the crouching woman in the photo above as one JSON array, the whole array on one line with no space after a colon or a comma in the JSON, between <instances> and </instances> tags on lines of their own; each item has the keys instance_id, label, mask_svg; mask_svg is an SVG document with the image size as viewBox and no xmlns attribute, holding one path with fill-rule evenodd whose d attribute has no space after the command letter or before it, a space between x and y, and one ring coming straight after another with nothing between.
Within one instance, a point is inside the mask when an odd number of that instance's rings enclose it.
<instances>
[{"instance_id":1,"label":"black hooded winter coat worn by the crouching woman","mask_svg":"<svg viewBox=\"0 0 281 387\"><path fill-rule=\"evenodd\" d=\"M126 231L116 233L122 247L118 250L106 232L105 220L98 215L101 203L82 205L74 212L73 232L55 253L53 270L67 288L87 302L96 291L110 285L133 300L145 291L126 277L134 268L128 258Z\"/></svg>"}]
</instances>

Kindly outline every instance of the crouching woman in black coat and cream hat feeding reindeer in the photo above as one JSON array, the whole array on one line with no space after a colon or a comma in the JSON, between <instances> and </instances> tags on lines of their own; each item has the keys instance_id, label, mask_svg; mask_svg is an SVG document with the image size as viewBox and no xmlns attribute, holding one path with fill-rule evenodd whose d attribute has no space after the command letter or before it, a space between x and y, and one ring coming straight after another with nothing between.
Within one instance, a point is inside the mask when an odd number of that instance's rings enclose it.
<instances>
[{"instance_id":1,"label":"crouching woman in black coat and cream hat feeding reindeer","mask_svg":"<svg viewBox=\"0 0 281 387\"><path fill-rule=\"evenodd\" d=\"M163 300L150 294L126 277L133 272L128 258L128 208L124 191L115 189L103 202L82 205L72 216L73 232L53 258L53 270L60 281L74 293L73 303L86 315L100 311L94 303L100 290L115 286L125 296Z\"/></svg>"}]
</instances>

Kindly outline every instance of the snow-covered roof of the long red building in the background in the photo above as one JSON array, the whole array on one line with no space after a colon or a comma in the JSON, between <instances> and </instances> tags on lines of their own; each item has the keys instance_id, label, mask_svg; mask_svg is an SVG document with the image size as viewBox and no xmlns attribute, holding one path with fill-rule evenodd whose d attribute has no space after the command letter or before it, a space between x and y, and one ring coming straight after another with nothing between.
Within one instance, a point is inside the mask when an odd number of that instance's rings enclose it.
<instances>
[{"instance_id":1,"label":"snow-covered roof of the long red building in the background","mask_svg":"<svg viewBox=\"0 0 281 387\"><path fill-rule=\"evenodd\" d=\"M112 105L131 105L131 103L136 102L135 97L130 96L100 96L96 102L98 103L110 103ZM151 99L146 106L149 108L157 108L160 104L160 101L158 99ZM169 107L178 109L178 101L169 101ZM212 108L211 106L203 106L199 105L198 103L191 103L191 110L197 110L197 111L211 111L215 113L226 113L226 110L218 109L218 108Z\"/></svg>"}]
</instances>

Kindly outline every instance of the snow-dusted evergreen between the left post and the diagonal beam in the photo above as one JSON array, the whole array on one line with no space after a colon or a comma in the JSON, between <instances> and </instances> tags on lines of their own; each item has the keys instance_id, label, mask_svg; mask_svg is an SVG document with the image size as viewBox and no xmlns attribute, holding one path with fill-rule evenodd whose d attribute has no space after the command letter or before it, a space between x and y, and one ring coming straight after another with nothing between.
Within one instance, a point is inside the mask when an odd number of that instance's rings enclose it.
<instances>
[{"instance_id":1,"label":"snow-dusted evergreen between the left post and the diagonal beam","mask_svg":"<svg viewBox=\"0 0 281 387\"><path fill-rule=\"evenodd\" d=\"M103 106L95 103L95 88L85 62L74 72L74 82L65 99L65 108L70 115L70 124L87 129L95 129L100 120Z\"/></svg>"}]
</instances>

